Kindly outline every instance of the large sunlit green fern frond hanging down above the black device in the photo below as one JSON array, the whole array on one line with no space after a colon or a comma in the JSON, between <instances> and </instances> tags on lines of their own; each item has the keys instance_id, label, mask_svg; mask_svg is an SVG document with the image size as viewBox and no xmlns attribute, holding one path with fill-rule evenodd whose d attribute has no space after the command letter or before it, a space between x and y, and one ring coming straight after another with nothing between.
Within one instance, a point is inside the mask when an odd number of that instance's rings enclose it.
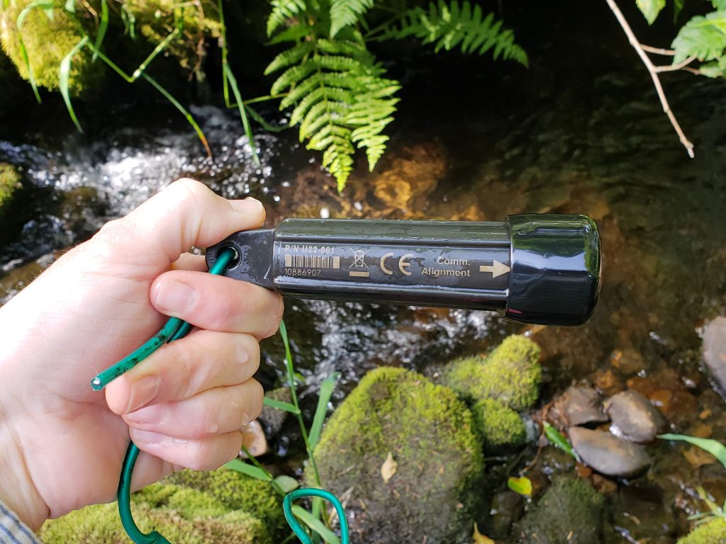
<instances>
[{"instance_id":1,"label":"large sunlit green fern frond hanging down above the black device","mask_svg":"<svg viewBox=\"0 0 726 544\"><path fill-rule=\"evenodd\" d=\"M280 108L293 107L290 125L299 125L309 149L323 152L322 165L342 191L356 147L366 150L370 168L386 149L383 129L393 120L399 84L381 77L355 40L309 38L278 55L266 73L280 70L272 94L287 92Z\"/></svg>"}]
</instances>

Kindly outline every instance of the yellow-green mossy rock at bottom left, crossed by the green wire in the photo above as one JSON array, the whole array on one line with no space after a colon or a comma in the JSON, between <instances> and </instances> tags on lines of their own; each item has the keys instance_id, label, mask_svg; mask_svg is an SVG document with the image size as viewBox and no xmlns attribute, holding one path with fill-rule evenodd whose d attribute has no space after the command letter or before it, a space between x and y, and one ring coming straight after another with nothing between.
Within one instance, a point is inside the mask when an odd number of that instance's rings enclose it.
<instances>
[{"instance_id":1,"label":"yellow-green mossy rock at bottom left, crossed by the green wire","mask_svg":"<svg viewBox=\"0 0 726 544\"><path fill-rule=\"evenodd\" d=\"M139 529L156 530L174 544L276 542L261 519L246 511L230 510L199 490L154 484L134 494L132 501ZM40 536L47 544L129 543L115 503L87 506L48 522Z\"/></svg>"}]
</instances>

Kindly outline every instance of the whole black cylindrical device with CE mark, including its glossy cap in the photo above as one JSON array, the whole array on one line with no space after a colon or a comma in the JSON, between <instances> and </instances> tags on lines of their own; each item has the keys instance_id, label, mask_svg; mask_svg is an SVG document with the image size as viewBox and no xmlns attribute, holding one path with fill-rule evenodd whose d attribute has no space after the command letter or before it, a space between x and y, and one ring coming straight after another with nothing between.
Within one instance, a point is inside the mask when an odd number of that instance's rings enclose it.
<instances>
[{"instance_id":1,"label":"whole black cylindrical device with CE mark, including its glossy cap","mask_svg":"<svg viewBox=\"0 0 726 544\"><path fill-rule=\"evenodd\" d=\"M600 236L584 215L510 215L500 223L286 219L241 231L225 276L282 294L500 310L524 323L581 325L600 288Z\"/></svg>"}]
</instances>

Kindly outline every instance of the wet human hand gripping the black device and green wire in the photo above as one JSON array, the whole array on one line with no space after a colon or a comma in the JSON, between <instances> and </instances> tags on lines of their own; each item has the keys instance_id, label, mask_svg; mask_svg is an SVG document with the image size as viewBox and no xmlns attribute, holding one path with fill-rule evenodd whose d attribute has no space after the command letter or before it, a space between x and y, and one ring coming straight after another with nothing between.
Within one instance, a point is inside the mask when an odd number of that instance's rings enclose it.
<instances>
[{"instance_id":1,"label":"wet human hand gripping the black device and green wire","mask_svg":"<svg viewBox=\"0 0 726 544\"><path fill-rule=\"evenodd\" d=\"M187 253L257 228L264 208L180 180L107 223L0 308L0 500L31 528L114 500L131 440L132 486L237 456L262 406L258 340L272 292L205 273ZM91 379L175 316L199 327L109 384Z\"/></svg>"}]
</instances>

